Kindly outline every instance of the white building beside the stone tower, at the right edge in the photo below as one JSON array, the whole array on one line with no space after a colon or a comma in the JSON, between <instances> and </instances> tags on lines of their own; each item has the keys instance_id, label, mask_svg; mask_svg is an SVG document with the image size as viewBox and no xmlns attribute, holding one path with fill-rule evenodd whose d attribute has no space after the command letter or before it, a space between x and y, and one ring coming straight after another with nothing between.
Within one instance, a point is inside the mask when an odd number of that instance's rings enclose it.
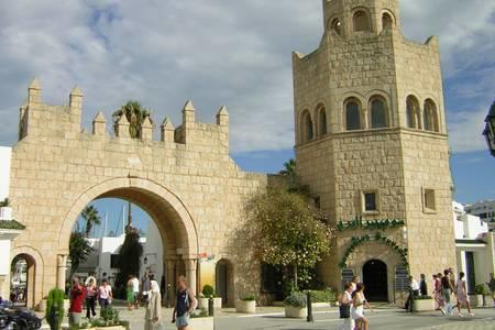
<instances>
[{"instance_id":1,"label":"white building beside the stone tower, at the right edge","mask_svg":"<svg viewBox=\"0 0 495 330\"><path fill-rule=\"evenodd\" d=\"M494 233L479 217L466 213L464 206L453 202L455 252L458 272L464 272L468 290L474 292L477 284L488 282L495 271Z\"/></svg>"}]
</instances>

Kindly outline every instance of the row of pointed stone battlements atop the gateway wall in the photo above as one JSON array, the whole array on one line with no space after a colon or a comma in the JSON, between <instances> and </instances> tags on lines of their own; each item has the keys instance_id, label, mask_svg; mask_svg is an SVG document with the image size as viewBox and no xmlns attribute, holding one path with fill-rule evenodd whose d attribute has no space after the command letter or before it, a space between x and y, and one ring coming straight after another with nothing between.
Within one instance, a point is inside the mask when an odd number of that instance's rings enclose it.
<instances>
[{"instance_id":1,"label":"row of pointed stone battlements atop the gateway wall","mask_svg":"<svg viewBox=\"0 0 495 330\"><path fill-rule=\"evenodd\" d=\"M81 132L82 91L75 87L69 95L68 106L50 106L43 103L42 87L37 78L28 88L28 100L20 107L19 140L25 136L69 138L79 139ZM163 144L197 144L200 146L220 145L229 152L229 112L221 107L216 114L216 123L198 123L195 120L196 109L193 101L187 101L183 108L183 123L174 128L169 119L161 125L161 141ZM123 116L112 123L116 139L130 139L130 123ZM146 119L142 124L141 141L153 141L153 120ZM92 135L98 139L109 136L107 120L103 112L99 112L92 121ZM87 133L84 133L87 134ZM79 138L78 138L79 136Z\"/></svg>"}]
</instances>

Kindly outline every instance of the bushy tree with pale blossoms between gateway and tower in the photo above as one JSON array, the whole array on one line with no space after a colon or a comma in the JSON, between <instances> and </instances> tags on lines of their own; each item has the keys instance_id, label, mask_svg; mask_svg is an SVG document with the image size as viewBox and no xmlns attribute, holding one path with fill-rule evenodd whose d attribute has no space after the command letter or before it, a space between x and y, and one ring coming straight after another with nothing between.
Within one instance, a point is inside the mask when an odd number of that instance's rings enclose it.
<instances>
[{"instance_id":1,"label":"bushy tree with pale blossoms between gateway and tower","mask_svg":"<svg viewBox=\"0 0 495 330\"><path fill-rule=\"evenodd\" d=\"M267 264L289 267L293 287L298 288L298 270L315 267L330 252L333 230L321 221L304 195L271 187L245 204L249 241L257 257ZM305 272L306 273L306 272Z\"/></svg>"}]
</instances>

